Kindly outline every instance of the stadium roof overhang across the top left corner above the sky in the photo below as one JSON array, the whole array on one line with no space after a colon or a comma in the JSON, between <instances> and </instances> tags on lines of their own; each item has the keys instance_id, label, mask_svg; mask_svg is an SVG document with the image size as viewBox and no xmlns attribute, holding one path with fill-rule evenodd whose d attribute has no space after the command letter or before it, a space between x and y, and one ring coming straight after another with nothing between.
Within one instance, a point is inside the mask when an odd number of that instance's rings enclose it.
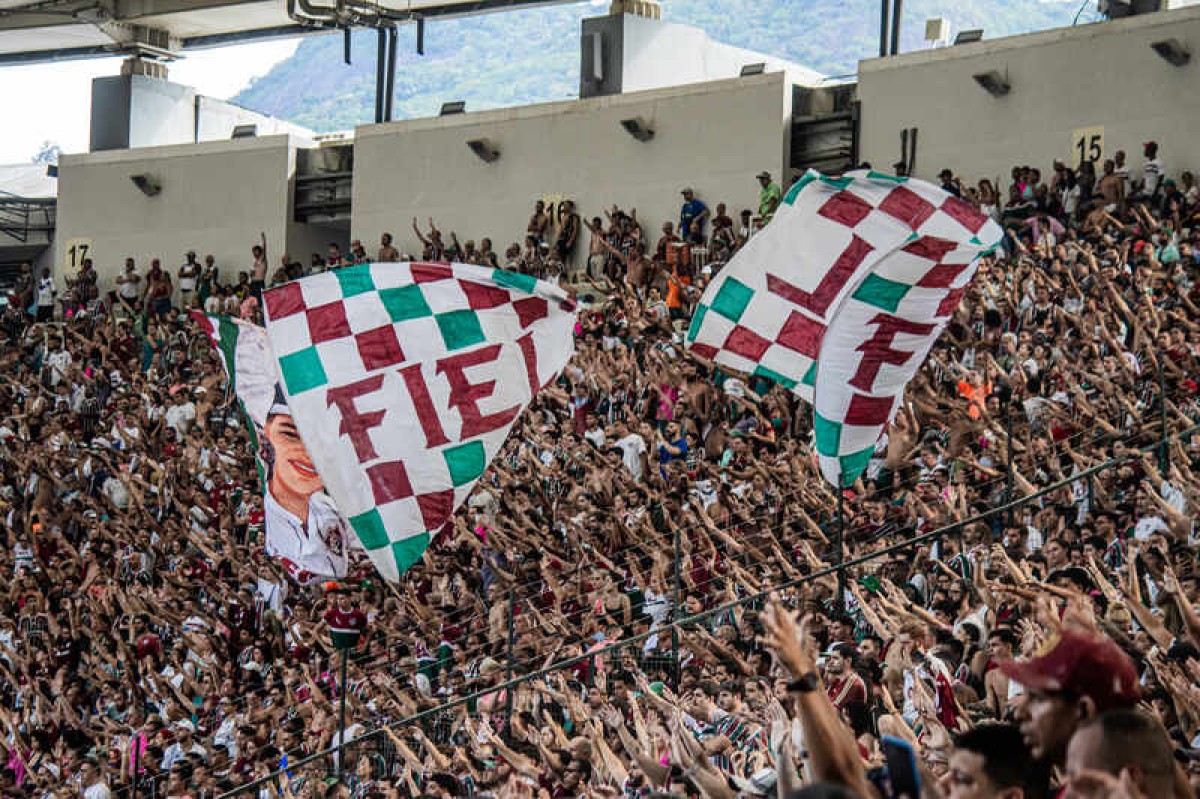
<instances>
[{"instance_id":1,"label":"stadium roof overhang across the top left corner above the sky","mask_svg":"<svg viewBox=\"0 0 1200 799\"><path fill-rule=\"evenodd\" d=\"M0 66L185 50L570 0L0 0Z\"/></svg>"}]
</instances>

